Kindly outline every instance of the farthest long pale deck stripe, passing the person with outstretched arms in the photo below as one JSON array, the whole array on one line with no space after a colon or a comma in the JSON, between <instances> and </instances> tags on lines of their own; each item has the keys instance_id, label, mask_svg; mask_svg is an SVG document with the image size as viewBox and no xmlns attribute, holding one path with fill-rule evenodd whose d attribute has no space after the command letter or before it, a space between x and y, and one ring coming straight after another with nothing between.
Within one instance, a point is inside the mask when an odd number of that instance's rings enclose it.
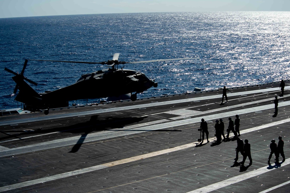
<instances>
[{"instance_id":1,"label":"farthest long pale deck stripe, passing the person with outstretched arms","mask_svg":"<svg viewBox=\"0 0 290 193\"><path fill-rule=\"evenodd\" d=\"M285 86L284 90L290 89L290 86ZM242 91L242 92L234 92L234 93L228 93L227 96L239 96L242 94L257 94L261 92L270 92L270 91L279 91L280 88L266 88L266 89L260 89L260 90L251 90L251 91ZM173 101L164 101L164 102L158 102L158 103L151 103L151 104L143 104L143 105L131 105L131 106L125 106L125 107L117 107L117 108L110 108L110 109L98 109L98 110L90 110L87 112L76 112L76 113L70 113L70 114L60 114L60 115L48 115L44 117L34 117L29 119L21 119L21 120L14 120L14 121L3 121L0 122L1 125L10 125L10 124L19 124L19 123L28 123L33 121L44 121L44 120L51 120L51 119L60 119L60 118L67 118L67 117L74 117L74 116L81 116L81 115L91 115L91 114L97 114L97 113L104 113L104 112L114 112L114 111L120 111L120 110L130 110L130 109L137 109L137 108L144 108L144 107L154 107L154 106L160 106L160 105L169 105L169 104L176 104L176 103L183 103L183 102L189 102L189 101L201 101L201 100L208 100L208 99L217 99L221 98L221 94L216 94L212 96L207 97L196 97L191 99L180 99L180 100L173 100Z\"/></svg>"}]
</instances>

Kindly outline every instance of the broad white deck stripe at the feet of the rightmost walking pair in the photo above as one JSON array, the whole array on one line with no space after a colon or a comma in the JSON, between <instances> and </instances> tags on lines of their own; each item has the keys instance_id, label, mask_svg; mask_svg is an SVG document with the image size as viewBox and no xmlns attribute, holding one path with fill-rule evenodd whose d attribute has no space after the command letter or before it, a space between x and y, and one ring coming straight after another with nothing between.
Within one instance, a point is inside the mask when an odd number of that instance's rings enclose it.
<instances>
[{"instance_id":1,"label":"broad white deck stripe at the feet of the rightmost walking pair","mask_svg":"<svg viewBox=\"0 0 290 193\"><path fill-rule=\"evenodd\" d=\"M290 164L290 158L286 159L285 162L282 163L281 167L285 166L285 165L288 165L288 164ZM257 170L253 170L251 172L247 172L247 173L244 173L244 174L241 174L241 175L238 175L238 176L235 176L235 177L220 181L218 183L214 183L214 184L211 184L211 185L208 185L208 186L205 186L205 187L202 187L202 188L187 192L187 193L195 193L195 192L206 193L206 192L211 192L211 191L218 190L220 188L226 187L228 185L231 185L231 184L234 184L234 183L238 183L238 182L250 179L250 178L252 178L254 176L257 176L257 175L260 175L260 174L264 174L266 172L270 172L270 171L273 171L274 169L280 168L280 167L277 167L277 168L273 167L272 169L268 169L268 167L269 167L269 165L267 165L265 167L261 167L261 168L259 168Z\"/></svg>"}]
</instances>

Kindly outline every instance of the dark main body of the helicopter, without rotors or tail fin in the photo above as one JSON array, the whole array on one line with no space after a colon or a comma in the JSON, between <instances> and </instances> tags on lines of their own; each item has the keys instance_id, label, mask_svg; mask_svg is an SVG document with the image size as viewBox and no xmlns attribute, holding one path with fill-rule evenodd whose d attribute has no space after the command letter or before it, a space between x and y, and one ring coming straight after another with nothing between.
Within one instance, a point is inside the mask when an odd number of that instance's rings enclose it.
<instances>
[{"instance_id":1,"label":"dark main body of the helicopter, without rotors or tail fin","mask_svg":"<svg viewBox=\"0 0 290 193\"><path fill-rule=\"evenodd\" d=\"M46 103L118 97L122 94L141 93L155 83L136 70L104 69L84 74L76 83L41 95Z\"/></svg>"}]
</instances>

